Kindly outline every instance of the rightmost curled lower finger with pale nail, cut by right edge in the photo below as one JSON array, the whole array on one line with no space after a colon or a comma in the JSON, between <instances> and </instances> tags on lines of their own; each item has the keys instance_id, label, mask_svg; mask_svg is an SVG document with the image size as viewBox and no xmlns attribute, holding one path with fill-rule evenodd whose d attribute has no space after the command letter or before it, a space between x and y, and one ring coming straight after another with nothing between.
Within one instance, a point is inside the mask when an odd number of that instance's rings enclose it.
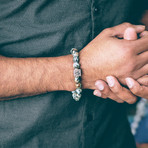
<instances>
[{"instance_id":1,"label":"rightmost curled lower finger with pale nail, cut by right edge","mask_svg":"<svg viewBox=\"0 0 148 148\"><path fill-rule=\"evenodd\" d=\"M148 87L140 85L132 78L126 78L126 83L133 94L148 99Z\"/></svg>"}]
</instances>

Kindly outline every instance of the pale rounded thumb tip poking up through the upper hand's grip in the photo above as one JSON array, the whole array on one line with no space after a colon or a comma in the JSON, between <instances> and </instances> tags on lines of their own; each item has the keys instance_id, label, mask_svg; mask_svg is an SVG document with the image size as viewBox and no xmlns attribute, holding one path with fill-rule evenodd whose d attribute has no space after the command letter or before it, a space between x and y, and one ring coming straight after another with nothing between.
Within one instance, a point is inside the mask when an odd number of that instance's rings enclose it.
<instances>
[{"instance_id":1,"label":"pale rounded thumb tip poking up through the upper hand's grip","mask_svg":"<svg viewBox=\"0 0 148 148\"><path fill-rule=\"evenodd\" d=\"M125 40L137 40L138 36L135 28L128 27L124 32L123 38Z\"/></svg>"}]
</instances>

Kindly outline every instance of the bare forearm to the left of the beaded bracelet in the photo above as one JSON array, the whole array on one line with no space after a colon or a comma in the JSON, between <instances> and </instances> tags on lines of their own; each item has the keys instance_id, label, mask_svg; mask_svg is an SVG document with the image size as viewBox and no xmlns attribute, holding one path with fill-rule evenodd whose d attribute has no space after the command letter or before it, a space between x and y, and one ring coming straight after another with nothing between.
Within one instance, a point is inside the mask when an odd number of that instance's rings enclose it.
<instances>
[{"instance_id":1,"label":"bare forearm to the left of the beaded bracelet","mask_svg":"<svg viewBox=\"0 0 148 148\"><path fill-rule=\"evenodd\" d=\"M0 57L0 99L75 89L72 56Z\"/></svg>"}]
</instances>

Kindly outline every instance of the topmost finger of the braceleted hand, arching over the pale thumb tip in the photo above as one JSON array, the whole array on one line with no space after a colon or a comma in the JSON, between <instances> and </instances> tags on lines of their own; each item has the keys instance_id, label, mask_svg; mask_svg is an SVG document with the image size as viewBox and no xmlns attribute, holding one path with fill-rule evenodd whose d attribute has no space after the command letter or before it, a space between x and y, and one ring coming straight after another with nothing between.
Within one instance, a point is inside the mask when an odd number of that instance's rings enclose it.
<instances>
[{"instance_id":1,"label":"topmost finger of the braceleted hand, arching over the pale thumb tip","mask_svg":"<svg viewBox=\"0 0 148 148\"><path fill-rule=\"evenodd\" d=\"M137 33L141 33L142 31L145 30L145 26L143 25L132 25L130 23L123 23L123 24L120 24L118 26L114 26L111 28L113 30L112 35L113 36L118 35L118 36L123 37L125 30L129 27L134 28Z\"/></svg>"}]
</instances>

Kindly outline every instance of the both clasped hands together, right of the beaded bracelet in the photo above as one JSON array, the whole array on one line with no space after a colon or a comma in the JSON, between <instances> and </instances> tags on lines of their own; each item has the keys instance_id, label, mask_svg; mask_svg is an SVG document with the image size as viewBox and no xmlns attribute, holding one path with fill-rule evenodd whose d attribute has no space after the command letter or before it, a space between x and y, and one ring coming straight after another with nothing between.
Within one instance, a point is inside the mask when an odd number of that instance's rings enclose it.
<instances>
[{"instance_id":1,"label":"both clasped hands together, right of the beaded bracelet","mask_svg":"<svg viewBox=\"0 0 148 148\"><path fill-rule=\"evenodd\" d=\"M144 30L123 23L92 40L80 52L84 88L119 103L132 104L137 96L148 98L148 32Z\"/></svg>"}]
</instances>

